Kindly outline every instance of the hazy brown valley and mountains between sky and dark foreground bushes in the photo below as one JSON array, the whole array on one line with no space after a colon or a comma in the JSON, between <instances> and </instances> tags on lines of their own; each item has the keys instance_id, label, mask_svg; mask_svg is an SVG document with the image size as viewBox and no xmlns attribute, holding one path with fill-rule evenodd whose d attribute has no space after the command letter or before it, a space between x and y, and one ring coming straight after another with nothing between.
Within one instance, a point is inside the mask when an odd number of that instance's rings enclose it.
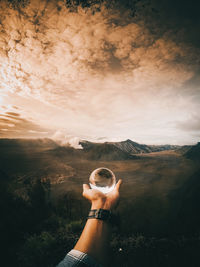
<instances>
[{"instance_id":1,"label":"hazy brown valley and mountains between sky and dark foreground bushes","mask_svg":"<svg viewBox=\"0 0 200 267\"><path fill-rule=\"evenodd\" d=\"M124 205L142 196L168 201L172 191L199 171L199 144L147 146L128 139L114 143L80 141L80 145L82 149L50 139L0 139L0 170L14 182L16 194L26 194L25 185L40 179L50 181L52 197L56 198L69 191L81 197L82 184L88 183L90 173L107 167L123 180Z\"/></svg>"}]
</instances>

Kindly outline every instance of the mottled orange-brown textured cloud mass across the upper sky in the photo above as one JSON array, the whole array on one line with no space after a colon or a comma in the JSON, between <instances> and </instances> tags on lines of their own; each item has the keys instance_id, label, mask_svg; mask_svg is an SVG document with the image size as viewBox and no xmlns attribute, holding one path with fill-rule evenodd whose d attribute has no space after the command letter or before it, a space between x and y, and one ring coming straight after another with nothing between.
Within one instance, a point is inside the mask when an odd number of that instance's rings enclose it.
<instances>
[{"instance_id":1,"label":"mottled orange-brown textured cloud mass across the upper sky","mask_svg":"<svg viewBox=\"0 0 200 267\"><path fill-rule=\"evenodd\" d=\"M155 86L155 73L159 84L171 76L169 83L176 86L192 75L191 67L183 64L191 52L188 47L164 35L157 38L132 18L121 25L116 10L71 13L64 5L58 10L53 3L31 1L23 14L6 8L1 15L1 79L11 92L64 107L91 93L89 80L97 85L114 69L121 84L128 76L133 83L147 79Z\"/></svg>"}]
</instances>

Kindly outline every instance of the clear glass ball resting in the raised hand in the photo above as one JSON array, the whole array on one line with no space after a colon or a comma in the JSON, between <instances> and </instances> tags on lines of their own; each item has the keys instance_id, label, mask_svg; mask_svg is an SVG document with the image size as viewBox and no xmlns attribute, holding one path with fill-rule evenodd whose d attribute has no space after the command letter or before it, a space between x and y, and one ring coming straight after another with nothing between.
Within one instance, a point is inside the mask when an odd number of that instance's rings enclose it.
<instances>
[{"instance_id":1,"label":"clear glass ball resting in the raised hand","mask_svg":"<svg viewBox=\"0 0 200 267\"><path fill-rule=\"evenodd\" d=\"M97 189L106 194L114 189L116 178L111 170L101 167L91 173L89 182L92 189Z\"/></svg>"}]
</instances>

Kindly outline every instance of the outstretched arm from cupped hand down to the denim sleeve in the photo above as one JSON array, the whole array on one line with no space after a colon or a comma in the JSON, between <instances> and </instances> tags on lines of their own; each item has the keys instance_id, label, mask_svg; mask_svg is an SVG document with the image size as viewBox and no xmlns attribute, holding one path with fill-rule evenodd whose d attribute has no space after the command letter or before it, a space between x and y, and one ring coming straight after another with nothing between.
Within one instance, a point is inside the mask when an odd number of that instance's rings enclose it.
<instances>
[{"instance_id":1,"label":"outstretched arm from cupped hand down to the denim sleeve","mask_svg":"<svg viewBox=\"0 0 200 267\"><path fill-rule=\"evenodd\" d=\"M91 202L91 210L95 210L95 213L90 213L90 219L87 220L74 250L70 252L71 254L67 254L65 259L59 264L60 267L74 266L69 265L70 262L77 264L77 262L83 262L83 259L87 259L86 265L89 260L91 266L96 266L92 258L103 265L107 263L111 236L110 219L112 220L112 214L108 211L113 210L118 203L121 182L119 180L115 188L108 194L91 189L87 184L83 185L83 196Z\"/></svg>"}]
</instances>

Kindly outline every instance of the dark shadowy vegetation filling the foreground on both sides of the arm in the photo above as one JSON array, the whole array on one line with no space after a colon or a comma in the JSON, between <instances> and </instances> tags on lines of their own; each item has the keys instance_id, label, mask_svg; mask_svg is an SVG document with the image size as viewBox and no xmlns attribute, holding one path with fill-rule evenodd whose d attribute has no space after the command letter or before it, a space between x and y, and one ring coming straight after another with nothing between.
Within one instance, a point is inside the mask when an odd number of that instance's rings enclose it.
<instances>
[{"instance_id":1,"label":"dark shadowy vegetation filling the foreground on both sides of the arm","mask_svg":"<svg viewBox=\"0 0 200 267\"><path fill-rule=\"evenodd\" d=\"M199 172L190 179L190 184L187 182L170 196L173 205L175 195L178 196L179 213L173 217L172 212L168 223L162 222L165 225L162 231L149 227L151 222L145 221L142 214L148 201L154 219L159 217L156 205L163 205L159 199L141 197L134 204L123 206L121 228L114 231L111 241L110 266L199 266L198 177ZM23 194L16 194L9 177L1 172L0 178L2 266L56 266L76 243L88 203L73 192L52 200L48 180L26 182Z\"/></svg>"}]
</instances>

